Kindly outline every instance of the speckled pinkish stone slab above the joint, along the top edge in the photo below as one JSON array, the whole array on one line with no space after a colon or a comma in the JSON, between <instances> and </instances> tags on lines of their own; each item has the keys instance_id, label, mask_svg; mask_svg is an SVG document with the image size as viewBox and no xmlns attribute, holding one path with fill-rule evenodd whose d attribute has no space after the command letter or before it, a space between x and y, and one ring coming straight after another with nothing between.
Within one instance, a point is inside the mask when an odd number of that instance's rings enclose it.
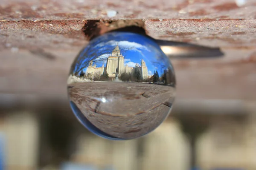
<instances>
[{"instance_id":1,"label":"speckled pinkish stone slab above the joint, along the top edge","mask_svg":"<svg viewBox=\"0 0 256 170\"><path fill-rule=\"evenodd\" d=\"M254 0L1 0L3 20L255 19ZM116 15L110 15L111 11ZM113 16L113 17L112 17Z\"/></svg>"}]
</instances>

